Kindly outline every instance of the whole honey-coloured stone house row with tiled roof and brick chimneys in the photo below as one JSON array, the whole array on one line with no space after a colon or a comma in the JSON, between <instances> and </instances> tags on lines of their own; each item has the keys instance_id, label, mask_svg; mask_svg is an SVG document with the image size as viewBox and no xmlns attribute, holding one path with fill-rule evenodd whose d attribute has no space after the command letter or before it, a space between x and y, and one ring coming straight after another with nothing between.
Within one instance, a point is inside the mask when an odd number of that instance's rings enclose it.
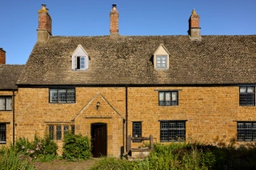
<instances>
[{"instance_id":1,"label":"whole honey-coloured stone house row with tiled roof and brick chimneys","mask_svg":"<svg viewBox=\"0 0 256 170\"><path fill-rule=\"evenodd\" d=\"M195 10L188 35L120 35L118 19L113 5L109 35L54 36L42 5L38 41L26 65L15 66L14 89L0 91L2 143L48 134L61 148L72 131L90 137L94 156L122 156L127 143L143 144L128 136L256 140L256 35L201 35Z\"/></svg>"}]
</instances>

